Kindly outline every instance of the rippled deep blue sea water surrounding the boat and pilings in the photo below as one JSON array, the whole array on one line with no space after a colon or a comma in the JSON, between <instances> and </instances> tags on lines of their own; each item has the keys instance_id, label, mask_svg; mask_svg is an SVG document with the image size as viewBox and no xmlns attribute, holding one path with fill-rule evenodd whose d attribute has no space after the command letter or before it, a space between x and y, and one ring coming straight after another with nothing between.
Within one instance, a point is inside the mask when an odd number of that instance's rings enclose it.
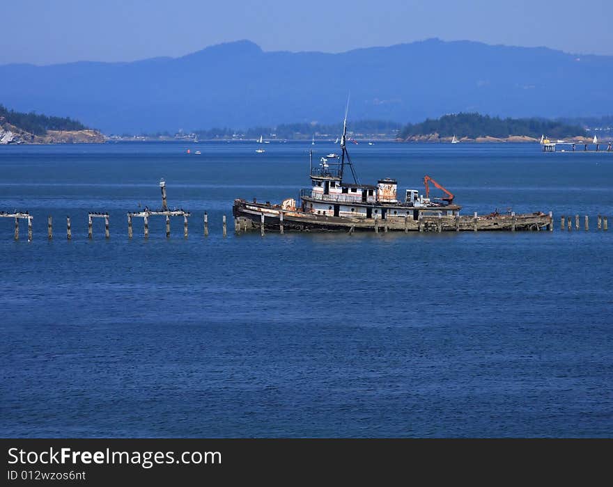
<instances>
[{"instance_id":1,"label":"rippled deep blue sea water surrounding the boat and pilings","mask_svg":"<svg viewBox=\"0 0 613 487\"><path fill-rule=\"evenodd\" d=\"M309 150L338 148L190 147L0 147L0 209L34 215L31 242L0 218L0 436L613 435L613 154L355 145L362 182L429 174L463 214L553 211L555 231L260 237L233 233L233 198L296 196ZM160 177L189 238L152 218L128 240Z\"/></svg>"}]
</instances>

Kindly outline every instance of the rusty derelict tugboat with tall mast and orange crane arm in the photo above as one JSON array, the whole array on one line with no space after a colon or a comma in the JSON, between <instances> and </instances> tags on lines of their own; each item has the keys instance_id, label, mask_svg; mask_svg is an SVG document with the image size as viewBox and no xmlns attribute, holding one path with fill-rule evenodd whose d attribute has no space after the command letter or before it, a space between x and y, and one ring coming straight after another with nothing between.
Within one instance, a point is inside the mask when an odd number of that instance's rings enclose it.
<instances>
[{"instance_id":1,"label":"rusty derelict tugboat with tall mast and orange crane arm","mask_svg":"<svg viewBox=\"0 0 613 487\"><path fill-rule=\"evenodd\" d=\"M553 229L552 215L499 214L460 216L454 195L426 175L425 194L407 189L405 200L398 200L396 179L379 179L377 185L362 184L357 179L346 147L347 115L343 121L341 154L328 154L313 166L310 152L311 188L300 191L300 204L287 198L281 205L236 199L233 205L235 230L344 231L358 230L447 232L480 230L548 230ZM353 182L343 179L350 169ZM444 193L430 198L430 183Z\"/></svg>"}]
</instances>

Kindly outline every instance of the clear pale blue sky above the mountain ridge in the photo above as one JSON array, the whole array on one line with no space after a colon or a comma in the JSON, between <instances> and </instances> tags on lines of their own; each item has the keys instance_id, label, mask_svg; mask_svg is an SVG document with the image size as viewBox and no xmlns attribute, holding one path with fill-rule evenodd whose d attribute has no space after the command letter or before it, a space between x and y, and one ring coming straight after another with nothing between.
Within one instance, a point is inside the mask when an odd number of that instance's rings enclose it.
<instances>
[{"instance_id":1,"label":"clear pale blue sky above the mountain ridge","mask_svg":"<svg viewBox=\"0 0 613 487\"><path fill-rule=\"evenodd\" d=\"M611 0L17 0L0 15L0 64L182 56L239 39L265 51L438 37L613 55Z\"/></svg>"}]
</instances>

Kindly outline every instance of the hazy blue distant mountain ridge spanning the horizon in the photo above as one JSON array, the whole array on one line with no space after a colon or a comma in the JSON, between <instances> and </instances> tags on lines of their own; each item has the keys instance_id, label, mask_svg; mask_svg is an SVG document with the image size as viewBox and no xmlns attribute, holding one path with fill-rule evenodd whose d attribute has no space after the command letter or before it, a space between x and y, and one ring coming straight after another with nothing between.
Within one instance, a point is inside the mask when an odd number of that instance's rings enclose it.
<instances>
[{"instance_id":1,"label":"hazy blue distant mountain ridge spanning the horizon","mask_svg":"<svg viewBox=\"0 0 613 487\"><path fill-rule=\"evenodd\" d=\"M341 54L262 51L247 40L180 58L0 66L0 102L106 133L338 122L445 113L606 115L613 56L430 39Z\"/></svg>"}]
</instances>

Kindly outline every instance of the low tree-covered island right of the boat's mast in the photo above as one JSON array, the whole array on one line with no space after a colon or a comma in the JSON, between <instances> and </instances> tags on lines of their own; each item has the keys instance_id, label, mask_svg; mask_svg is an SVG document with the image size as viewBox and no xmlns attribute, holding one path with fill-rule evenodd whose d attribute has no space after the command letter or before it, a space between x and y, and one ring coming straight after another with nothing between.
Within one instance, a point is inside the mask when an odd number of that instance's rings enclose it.
<instances>
[{"instance_id":1,"label":"low tree-covered island right of the boat's mast","mask_svg":"<svg viewBox=\"0 0 613 487\"><path fill-rule=\"evenodd\" d=\"M584 136L585 129L580 125L568 125L557 120L542 118L499 118L479 113L456 113L405 125L398 132L398 138L407 140L434 134L439 137L455 135L458 138L509 138L513 136L541 138L541 135L550 138L564 138Z\"/></svg>"}]
</instances>

